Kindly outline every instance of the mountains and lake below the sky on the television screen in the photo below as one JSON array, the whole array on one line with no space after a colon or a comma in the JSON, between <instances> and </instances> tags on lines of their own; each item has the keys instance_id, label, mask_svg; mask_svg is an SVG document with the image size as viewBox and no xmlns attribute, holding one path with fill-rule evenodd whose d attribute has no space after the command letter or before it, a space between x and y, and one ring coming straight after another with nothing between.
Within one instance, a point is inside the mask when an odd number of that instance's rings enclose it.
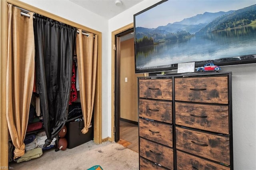
<instances>
[{"instance_id":1,"label":"mountains and lake below the sky on the television screen","mask_svg":"<svg viewBox=\"0 0 256 170\"><path fill-rule=\"evenodd\" d=\"M256 4L228 12L204 12L156 28L136 27L144 22L139 18L134 22L137 70L170 69L187 62L256 62ZM147 22L151 25L152 21Z\"/></svg>"}]
</instances>

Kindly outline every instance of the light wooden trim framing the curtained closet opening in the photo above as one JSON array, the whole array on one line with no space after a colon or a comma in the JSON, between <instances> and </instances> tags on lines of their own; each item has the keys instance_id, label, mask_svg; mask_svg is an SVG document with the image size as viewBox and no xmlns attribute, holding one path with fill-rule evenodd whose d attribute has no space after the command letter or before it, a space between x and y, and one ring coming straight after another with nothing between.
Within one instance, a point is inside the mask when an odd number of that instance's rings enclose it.
<instances>
[{"instance_id":1,"label":"light wooden trim framing the curtained closet opening","mask_svg":"<svg viewBox=\"0 0 256 170\"><path fill-rule=\"evenodd\" d=\"M78 32L82 32L83 31L83 34L90 34L90 36L97 36L98 37L98 44L97 44L97 47L101 47L101 32L98 32L96 30L92 30L90 28L87 28L85 26L81 26L80 24L76 24L74 22L71 22L69 20L66 20L64 18L61 18L59 16L55 16L54 14L50 14L48 12L45 12L43 10L40 10L38 8L35 8L33 6L30 6L28 4L25 4L24 2L20 2L20 1L16 1L16 0L3 0L1 1L1 56L2 56L2 59L1 59L1 82L6 82L6 76L3 76L3 75L10 75L8 73L8 71L6 71L6 63L7 63L7 51L8 51L8 45L6 44L6 42L8 42L8 7L7 7L7 4L12 4L14 6L19 6L20 8L22 9L26 9L28 11L33 11L35 12L36 14L40 14L42 16L45 16L45 17L48 17L48 18L52 18L52 20L56 20L56 21L59 21L61 23L64 23L64 24L67 24L67 25L70 25L70 26L73 26L75 28L78 28ZM26 11L24 12L26 14ZM21 31L19 31L21 32ZM86 33L84 33L86 32ZM93 128L94 128L94 131L93 131L93 136L94 136L94 142L96 144L99 144L102 142L102 138L101 138L101 49L98 48L96 50L98 52L98 60L96 61L96 65L97 65L97 70L96 70L96 87L95 87L95 98L94 98L94 101L96 101L94 103L94 107L93 107L93 112L94 112L94 115L92 117L92 121L93 121ZM32 77L32 76L31 76ZM1 83L2 84L2 83ZM6 84L6 83L4 83ZM1 92L3 91L6 91L6 85L1 85ZM9 95L9 94L8 94ZM5 93L1 93L1 98L2 99L6 99L6 92ZM1 134L1 166L8 166L8 128L7 128L7 116L6 114L8 112L6 112L6 109L7 111L9 110L8 109L8 106L6 106L6 103L7 100L1 100L1 119L0 119L0 124L1 124L1 128L0 128L0 134ZM9 128L10 129L10 128ZM3 151L3 152L2 152ZM6 152L4 152L6 151Z\"/></svg>"}]
</instances>

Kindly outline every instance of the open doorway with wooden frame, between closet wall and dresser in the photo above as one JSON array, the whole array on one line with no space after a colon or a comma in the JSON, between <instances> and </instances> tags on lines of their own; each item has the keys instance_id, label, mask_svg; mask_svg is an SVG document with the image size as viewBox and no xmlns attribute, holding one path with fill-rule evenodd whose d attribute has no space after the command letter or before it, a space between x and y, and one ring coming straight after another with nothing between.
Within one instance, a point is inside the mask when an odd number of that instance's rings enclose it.
<instances>
[{"instance_id":1,"label":"open doorway with wooden frame, between closet wall and dresser","mask_svg":"<svg viewBox=\"0 0 256 170\"><path fill-rule=\"evenodd\" d=\"M114 71L112 66L114 72L113 137L115 142L138 152L137 77L143 74L135 74L133 24L130 28L121 28L117 33L112 32L112 38L114 38L112 42L115 47L114 59L112 55L114 60L112 62L114 63Z\"/></svg>"}]
</instances>

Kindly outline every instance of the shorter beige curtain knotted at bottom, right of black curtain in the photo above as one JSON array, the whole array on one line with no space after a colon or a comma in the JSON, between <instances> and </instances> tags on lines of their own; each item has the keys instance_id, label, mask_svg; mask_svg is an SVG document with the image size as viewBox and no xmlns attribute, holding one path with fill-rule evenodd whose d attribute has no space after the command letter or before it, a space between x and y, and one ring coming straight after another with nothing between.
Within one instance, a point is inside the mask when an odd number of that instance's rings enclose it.
<instances>
[{"instance_id":1,"label":"shorter beige curtain knotted at bottom, right of black curtain","mask_svg":"<svg viewBox=\"0 0 256 170\"><path fill-rule=\"evenodd\" d=\"M98 36L83 35L82 30L76 37L76 54L78 63L78 80L80 99L84 116L82 133L87 133L92 121L96 87Z\"/></svg>"}]
</instances>

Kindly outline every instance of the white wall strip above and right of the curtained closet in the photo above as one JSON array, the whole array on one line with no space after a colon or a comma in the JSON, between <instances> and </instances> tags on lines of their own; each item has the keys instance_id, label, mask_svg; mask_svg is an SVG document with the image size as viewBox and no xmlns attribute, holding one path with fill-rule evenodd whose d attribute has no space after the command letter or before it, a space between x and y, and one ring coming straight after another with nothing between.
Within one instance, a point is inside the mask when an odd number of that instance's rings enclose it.
<instances>
[{"instance_id":1,"label":"white wall strip above and right of the curtained closet","mask_svg":"<svg viewBox=\"0 0 256 170\"><path fill-rule=\"evenodd\" d=\"M111 74L108 63L108 20L101 16L90 12L68 0L20 0L26 4L30 4L36 8L40 8L44 11L50 12L62 18L68 19L72 22L76 22L88 28L102 32L102 138L106 138L110 135L108 117L111 117L111 105L109 97L108 85L111 83L111 79L108 79ZM111 93L111 92L110 92ZM109 109L110 108L110 109Z\"/></svg>"}]
</instances>

